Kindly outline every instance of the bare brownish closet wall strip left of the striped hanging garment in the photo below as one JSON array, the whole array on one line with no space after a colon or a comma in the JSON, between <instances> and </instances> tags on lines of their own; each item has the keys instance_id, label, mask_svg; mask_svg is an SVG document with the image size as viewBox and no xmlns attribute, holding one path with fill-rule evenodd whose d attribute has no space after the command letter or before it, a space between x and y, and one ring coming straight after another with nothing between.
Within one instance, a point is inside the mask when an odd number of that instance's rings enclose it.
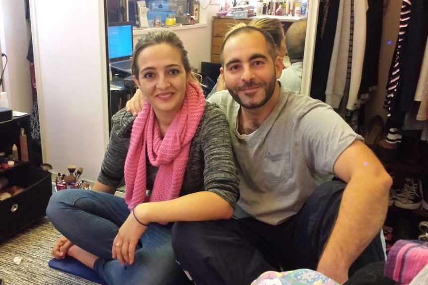
<instances>
[{"instance_id":1,"label":"bare brownish closet wall strip left of the striped hanging garment","mask_svg":"<svg viewBox=\"0 0 428 285\"><path fill-rule=\"evenodd\" d=\"M370 94L370 101L365 105L365 121L375 115L381 115L386 121L387 112L383 109L386 97L386 83L388 80L391 59L394 55L400 25L401 0L389 0L386 13L383 18L382 42L380 46L379 73L377 90ZM388 45L388 41L391 44Z\"/></svg>"}]
</instances>

